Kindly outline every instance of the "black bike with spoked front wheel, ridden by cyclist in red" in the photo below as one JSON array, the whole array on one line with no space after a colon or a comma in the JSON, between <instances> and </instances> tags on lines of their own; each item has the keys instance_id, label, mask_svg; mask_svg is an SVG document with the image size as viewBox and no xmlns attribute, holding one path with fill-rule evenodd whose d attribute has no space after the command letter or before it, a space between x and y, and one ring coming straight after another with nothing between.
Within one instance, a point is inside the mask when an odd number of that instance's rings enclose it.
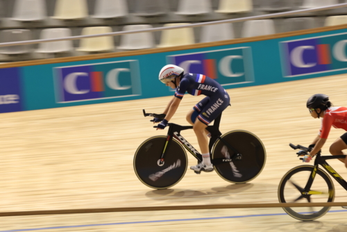
<instances>
[{"instance_id":1,"label":"black bike with spoked front wheel, ridden by cyclist in red","mask_svg":"<svg viewBox=\"0 0 347 232\"><path fill-rule=\"evenodd\" d=\"M292 149L301 149L298 156L305 156L311 149L301 145L294 146L289 144ZM332 202L335 198L334 183L330 179L332 176L345 190L347 182L325 161L337 158L346 158L341 156L321 156L321 151L316 154L314 165L300 165L289 170L282 177L278 186L278 199L280 203L307 203L307 202ZM302 160L303 158L301 158ZM321 165L326 172L319 167ZM330 174L330 176L327 174ZM285 212L302 221L311 221L318 219L328 213L330 207L284 207Z\"/></svg>"}]
</instances>

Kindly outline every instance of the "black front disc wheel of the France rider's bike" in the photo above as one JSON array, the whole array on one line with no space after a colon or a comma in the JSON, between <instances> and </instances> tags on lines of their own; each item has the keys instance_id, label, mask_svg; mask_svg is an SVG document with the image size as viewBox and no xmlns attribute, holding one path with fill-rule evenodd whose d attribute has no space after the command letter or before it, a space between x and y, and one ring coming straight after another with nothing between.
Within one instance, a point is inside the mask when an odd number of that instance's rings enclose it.
<instances>
[{"instance_id":1,"label":"black front disc wheel of the France rider's bike","mask_svg":"<svg viewBox=\"0 0 347 232\"><path fill-rule=\"evenodd\" d=\"M187 154L175 139L167 149L164 165L159 166L166 136L155 136L142 142L135 153L134 169L137 177L145 185L155 189L165 189L176 185L187 171Z\"/></svg>"}]
</instances>

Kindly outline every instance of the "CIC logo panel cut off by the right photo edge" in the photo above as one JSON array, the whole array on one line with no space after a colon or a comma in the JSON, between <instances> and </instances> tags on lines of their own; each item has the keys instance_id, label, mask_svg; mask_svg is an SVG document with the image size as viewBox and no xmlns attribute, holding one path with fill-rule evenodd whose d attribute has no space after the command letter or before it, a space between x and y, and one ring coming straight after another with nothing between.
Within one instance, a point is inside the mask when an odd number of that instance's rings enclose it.
<instances>
[{"instance_id":1,"label":"CIC logo panel cut off by the right photo edge","mask_svg":"<svg viewBox=\"0 0 347 232\"><path fill-rule=\"evenodd\" d=\"M280 42L283 76L347 69L347 33Z\"/></svg>"}]
</instances>

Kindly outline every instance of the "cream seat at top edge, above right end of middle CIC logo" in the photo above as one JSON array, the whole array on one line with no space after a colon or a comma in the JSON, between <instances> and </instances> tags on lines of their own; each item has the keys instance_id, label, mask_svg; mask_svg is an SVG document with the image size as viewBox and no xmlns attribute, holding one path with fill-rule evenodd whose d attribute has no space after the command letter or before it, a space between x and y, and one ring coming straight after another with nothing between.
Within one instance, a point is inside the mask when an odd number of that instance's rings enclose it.
<instances>
[{"instance_id":1,"label":"cream seat at top edge, above right end of middle CIC logo","mask_svg":"<svg viewBox=\"0 0 347 232\"><path fill-rule=\"evenodd\" d=\"M219 0L217 13L246 13L253 10L252 0Z\"/></svg>"}]
</instances>

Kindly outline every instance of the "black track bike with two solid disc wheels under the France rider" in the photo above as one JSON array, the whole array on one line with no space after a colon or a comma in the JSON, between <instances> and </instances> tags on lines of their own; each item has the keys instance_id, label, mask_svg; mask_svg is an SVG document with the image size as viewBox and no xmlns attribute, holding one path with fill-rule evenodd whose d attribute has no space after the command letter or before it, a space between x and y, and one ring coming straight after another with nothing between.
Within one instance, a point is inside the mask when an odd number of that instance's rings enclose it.
<instances>
[{"instance_id":1,"label":"black track bike with two solid disc wheels under the France rider","mask_svg":"<svg viewBox=\"0 0 347 232\"><path fill-rule=\"evenodd\" d=\"M165 117L146 113L145 110L143 113L144 117ZM220 122L221 115L214 119L212 126L206 128L211 133L209 150L214 170L222 179L231 183L246 183L255 179L262 172L266 161L262 141L248 131L229 131L222 135L219 131ZM135 173L150 188L170 188L183 178L188 165L185 149L198 162L203 160L201 154L180 135L181 131L193 129L193 126L169 123L168 127L166 136L158 135L145 140L135 152Z\"/></svg>"}]
</instances>

